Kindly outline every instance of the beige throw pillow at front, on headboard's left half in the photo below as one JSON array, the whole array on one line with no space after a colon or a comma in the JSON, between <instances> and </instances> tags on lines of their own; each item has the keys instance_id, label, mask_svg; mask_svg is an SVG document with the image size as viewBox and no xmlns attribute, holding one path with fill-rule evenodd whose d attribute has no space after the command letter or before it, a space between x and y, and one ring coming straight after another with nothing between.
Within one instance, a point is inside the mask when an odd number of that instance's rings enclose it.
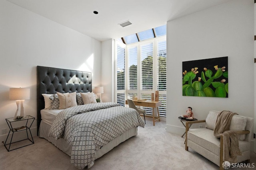
<instances>
[{"instance_id":1,"label":"beige throw pillow at front, on headboard's left half","mask_svg":"<svg viewBox=\"0 0 256 170\"><path fill-rule=\"evenodd\" d=\"M59 100L60 100L60 107L59 109L66 109L69 107L77 106L76 103L76 92L73 93L59 93L57 92Z\"/></svg>"}]
</instances>

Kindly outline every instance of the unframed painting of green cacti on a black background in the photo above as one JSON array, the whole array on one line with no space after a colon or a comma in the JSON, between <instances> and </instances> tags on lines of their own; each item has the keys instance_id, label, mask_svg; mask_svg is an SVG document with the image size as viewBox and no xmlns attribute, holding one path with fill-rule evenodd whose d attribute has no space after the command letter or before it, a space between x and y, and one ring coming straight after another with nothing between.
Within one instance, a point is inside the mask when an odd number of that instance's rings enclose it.
<instances>
[{"instance_id":1,"label":"unframed painting of green cacti on a black background","mask_svg":"<svg viewBox=\"0 0 256 170\"><path fill-rule=\"evenodd\" d=\"M228 98L228 57L182 62L182 96Z\"/></svg>"}]
</instances>

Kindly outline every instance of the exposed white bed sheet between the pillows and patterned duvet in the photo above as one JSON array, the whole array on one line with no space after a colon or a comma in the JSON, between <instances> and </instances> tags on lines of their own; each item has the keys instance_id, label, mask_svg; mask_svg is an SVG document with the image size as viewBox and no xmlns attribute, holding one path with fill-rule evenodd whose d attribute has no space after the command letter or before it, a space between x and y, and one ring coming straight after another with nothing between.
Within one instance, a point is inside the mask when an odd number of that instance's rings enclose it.
<instances>
[{"instance_id":1,"label":"exposed white bed sheet between the pillows and patterned duvet","mask_svg":"<svg viewBox=\"0 0 256 170\"><path fill-rule=\"evenodd\" d=\"M44 121L45 123L47 123L48 125L52 125L55 117L58 115L58 113L60 113L62 110L64 109L54 109L54 110L50 110L50 109L42 109L40 111L41 113L41 119L42 121Z\"/></svg>"}]
</instances>

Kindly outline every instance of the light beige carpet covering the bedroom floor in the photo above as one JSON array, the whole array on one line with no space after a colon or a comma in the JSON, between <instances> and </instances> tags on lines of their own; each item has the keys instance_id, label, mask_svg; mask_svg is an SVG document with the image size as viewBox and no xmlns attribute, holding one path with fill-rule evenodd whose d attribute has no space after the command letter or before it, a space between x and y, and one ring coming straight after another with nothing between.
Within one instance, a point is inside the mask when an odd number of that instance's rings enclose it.
<instances>
[{"instance_id":1,"label":"light beige carpet covering the bedroom floor","mask_svg":"<svg viewBox=\"0 0 256 170\"><path fill-rule=\"evenodd\" d=\"M146 119L145 128L138 127L138 135L121 143L97 159L90 170L218 170L219 167L200 154L185 150L184 138L166 132L166 122L153 126ZM77 170L70 164L70 156L54 145L34 137L35 143L7 152L0 147L1 170ZM251 163L256 154L251 153ZM241 168L246 170L246 168ZM253 168L248 168L248 170ZM231 170L231 168L230 168Z\"/></svg>"}]
</instances>

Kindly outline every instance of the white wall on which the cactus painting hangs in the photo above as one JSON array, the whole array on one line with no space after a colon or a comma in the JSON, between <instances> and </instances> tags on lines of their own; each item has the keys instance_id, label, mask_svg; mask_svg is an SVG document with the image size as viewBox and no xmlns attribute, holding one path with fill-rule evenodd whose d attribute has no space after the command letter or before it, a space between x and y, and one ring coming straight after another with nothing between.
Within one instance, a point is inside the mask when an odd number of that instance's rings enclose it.
<instances>
[{"instance_id":1,"label":"white wall on which the cactus painting hangs","mask_svg":"<svg viewBox=\"0 0 256 170\"><path fill-rule=\"evenodd\" d=\"M254 1L232 0L167 23L167 131L182 134L188 106L254 117ZM182 61L228 56L228 98L182 96ZM191 128L193 128L192 125ZM198 128L198 125L197 127Z\"/></svg>"}]
</instances>

